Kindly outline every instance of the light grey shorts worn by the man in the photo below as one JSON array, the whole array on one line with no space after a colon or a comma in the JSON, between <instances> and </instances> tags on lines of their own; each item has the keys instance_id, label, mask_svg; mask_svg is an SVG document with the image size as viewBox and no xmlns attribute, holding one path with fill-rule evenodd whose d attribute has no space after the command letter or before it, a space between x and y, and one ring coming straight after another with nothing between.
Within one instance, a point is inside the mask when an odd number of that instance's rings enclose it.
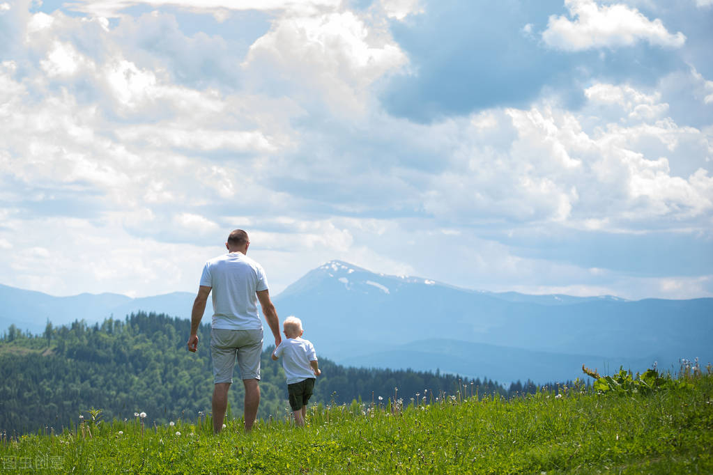
<instances>
[{"instance_id":1,"label":"light grey shorts worn by the man","mask_svg":"<svg viewBox=\"0 0 713 475\"><path fill-rule=\"evenodd\" d=\"M210 330L210 355L213 357L213 382L232 382L235 357L240 379L260 379L262 328L258 330Z\"/></svg>"}]
</instances>

